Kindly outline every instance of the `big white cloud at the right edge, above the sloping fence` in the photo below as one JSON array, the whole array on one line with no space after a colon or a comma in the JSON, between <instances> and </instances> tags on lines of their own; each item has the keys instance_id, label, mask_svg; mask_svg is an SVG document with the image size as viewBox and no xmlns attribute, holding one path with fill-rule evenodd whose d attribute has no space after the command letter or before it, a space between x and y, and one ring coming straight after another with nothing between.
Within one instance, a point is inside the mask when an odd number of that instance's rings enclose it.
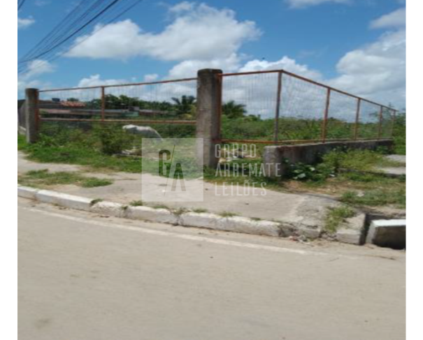
<instances>
[{"instance_id":1,"label":"big white cloud at the right edge, above the sloping fence","mask_svg":"<svg viewBox=\"0 0 423 340\"><path fill-rule=\"evenodd\" d=\"M330 82L353 94L400 108L406 103L406 31L384 34L371 45L348 52Z\"/></svg>"}]
</instances>

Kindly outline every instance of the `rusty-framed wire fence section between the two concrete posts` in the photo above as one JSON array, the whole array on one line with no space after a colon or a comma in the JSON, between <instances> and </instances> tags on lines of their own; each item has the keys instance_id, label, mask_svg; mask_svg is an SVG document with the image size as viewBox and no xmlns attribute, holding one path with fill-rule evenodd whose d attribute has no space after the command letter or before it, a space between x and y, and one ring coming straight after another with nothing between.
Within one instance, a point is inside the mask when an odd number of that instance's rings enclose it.
<instances>
[{"instance_id":1,"label":"rusty-framed wire fence section between the two concrete posts","mask_svg":"<svg viewBox=\"0 0 423 340\"><path fill-rule=\"evenodd\" d=\"M163 137L195 134L196 78L38 91L38 122L153 125Z\"/></svg>"}]
</instances>

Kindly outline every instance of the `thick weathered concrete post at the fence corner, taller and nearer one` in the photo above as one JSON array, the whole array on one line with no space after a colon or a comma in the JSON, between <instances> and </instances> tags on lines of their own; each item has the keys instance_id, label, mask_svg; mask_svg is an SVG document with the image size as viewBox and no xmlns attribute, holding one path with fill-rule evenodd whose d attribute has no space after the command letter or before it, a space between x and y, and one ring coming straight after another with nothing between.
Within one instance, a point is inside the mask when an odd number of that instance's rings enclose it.
<instances>
[{"instance_id":1,"label":"thick weathered concrete post at the fence corner, taller and nearer one","mask_svg":"<svg viewBox=\"0 0 423 340\"><path fill-rule=\"evenodd\" d=\"M203 147L198 150L204 157L204 165L216 168L219 157L215 147L220 140L222 110L222 70L204 69L198 73L196 138L203 139Z\"/></svg>"}]
</instances>

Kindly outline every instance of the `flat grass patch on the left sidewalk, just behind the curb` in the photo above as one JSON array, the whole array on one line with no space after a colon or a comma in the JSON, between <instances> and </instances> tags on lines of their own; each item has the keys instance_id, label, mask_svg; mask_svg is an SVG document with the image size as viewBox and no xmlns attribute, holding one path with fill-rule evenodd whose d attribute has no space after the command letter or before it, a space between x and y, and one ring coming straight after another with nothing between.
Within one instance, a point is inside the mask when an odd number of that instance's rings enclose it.
<instances>
[{"instance_id":1,"label":"flat grass patch on the left sidewalk, just behind the curb","mask_svg":"<svg viewBox=\"0 0 423 340\"><path fill-rule=\"evenodd\" d=\"M78 172L49 172L48 170L29 171L24 175L18 176L17 182L24 186L36 188L70 184L82 186L83 188L95 188L113 184L113 181L108 179L85 177Z\"/></svg>"}]
</instances>

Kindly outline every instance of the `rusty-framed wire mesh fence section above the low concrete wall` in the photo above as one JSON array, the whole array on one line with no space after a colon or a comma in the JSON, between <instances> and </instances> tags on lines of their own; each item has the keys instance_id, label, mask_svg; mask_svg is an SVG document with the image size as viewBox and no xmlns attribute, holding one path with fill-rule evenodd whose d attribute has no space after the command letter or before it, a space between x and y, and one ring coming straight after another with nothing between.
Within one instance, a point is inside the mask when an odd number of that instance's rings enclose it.
<instances>
[{"instance_id":1,"label":"rusty-framed wire mesh fence section above the low concrete wall","mask_svg":"<svg viewBox=\"0 0 423 340\"><path fill-rule=\"evenodd\" d=\"M287 71L220 75L220 142L268 145L392 138L397 111Z\"/></svg>"}]
</instances>

